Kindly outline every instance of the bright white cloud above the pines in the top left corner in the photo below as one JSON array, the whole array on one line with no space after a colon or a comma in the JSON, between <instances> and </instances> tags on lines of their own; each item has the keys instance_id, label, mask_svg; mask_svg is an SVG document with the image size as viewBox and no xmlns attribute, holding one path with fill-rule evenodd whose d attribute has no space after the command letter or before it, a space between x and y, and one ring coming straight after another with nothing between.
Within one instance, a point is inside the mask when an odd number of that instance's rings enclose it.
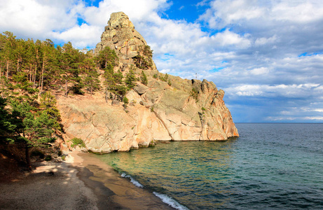
<instances>
[{"instance_id":1,"label":"bright white cloud above the pines in the top left corner","mask_svg":"<svg viewBox=\"0 0 323 210\"><path fill-rule=\"evenodd\" d=\"M50 31L60 31L76 24L78 6L74 7L73 2L3 0L0 2L0 28L20 36L28 34L45 38Z\"/></svg>"}]
</instances>

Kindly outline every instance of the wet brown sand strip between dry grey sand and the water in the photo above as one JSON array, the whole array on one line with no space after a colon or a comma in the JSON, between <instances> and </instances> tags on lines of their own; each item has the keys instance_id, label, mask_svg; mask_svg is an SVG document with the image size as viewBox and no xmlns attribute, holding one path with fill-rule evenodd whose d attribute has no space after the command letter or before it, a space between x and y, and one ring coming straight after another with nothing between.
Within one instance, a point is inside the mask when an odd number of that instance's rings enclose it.
<instances>
[{"instance_id":1,"label":"wet brown sand strip between dry grey sand and the water","mask_svg":"<svg viewBox=\"0 0 323 210\"><path fill-rule=\"evenodd\" d=\"M92 153L72 153L74 167L81 159L78 179L91 188L98 198L98 209L173 209L144 188L121 177Z\"/></svg>"}]
</instances>

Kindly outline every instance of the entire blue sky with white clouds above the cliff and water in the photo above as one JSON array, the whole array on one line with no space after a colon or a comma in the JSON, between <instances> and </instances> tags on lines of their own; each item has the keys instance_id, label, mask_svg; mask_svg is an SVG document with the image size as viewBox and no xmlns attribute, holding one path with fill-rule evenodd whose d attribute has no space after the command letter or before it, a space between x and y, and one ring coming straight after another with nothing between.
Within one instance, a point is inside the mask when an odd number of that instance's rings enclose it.
<instances>
[{"instance_id":1,"label":"entire blue sky with white clouds above the cliff and water","mask_svg":"<svg viewBox=\"0 0 323 210\"><path fill-rule=\"evenodd\" d=\"M118 11L160 72L224 90L235 123L323 123L322 0L1 0L0 31L91 49Z\"/></svg>"}]
</instances>

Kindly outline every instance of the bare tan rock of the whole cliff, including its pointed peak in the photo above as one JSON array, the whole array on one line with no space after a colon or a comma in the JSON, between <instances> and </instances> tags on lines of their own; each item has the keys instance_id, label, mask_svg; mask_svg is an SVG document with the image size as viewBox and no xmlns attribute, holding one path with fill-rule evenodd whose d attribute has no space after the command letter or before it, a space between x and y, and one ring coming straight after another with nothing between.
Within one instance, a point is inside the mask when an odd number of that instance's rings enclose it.
<instances>
[{"instance_id":1,"label":"bare tan rock of the whole cliff, including its pointed peak","mask_svg":"<svg viewBox=\"0 0 323 210\"><path fill-rule=\"evenodd\" d=\"M116 69L126 73L139 45L146 45L146 41L124 13L113 13L108 24L96 52L106 45L115 49L121 58ZM94 96L58 98L64 139L78 137L88 150L109 153L149 146L154 141L216 141L239 136L224 104L224 91L214 83L175 76L168 76L167 83L153 77L158 73L154 64L135 73L141 71L148 84L137 82L126 94L130 102L126 109L121 102L106 103L103 91Z\"/></svg>"}]
</instances>

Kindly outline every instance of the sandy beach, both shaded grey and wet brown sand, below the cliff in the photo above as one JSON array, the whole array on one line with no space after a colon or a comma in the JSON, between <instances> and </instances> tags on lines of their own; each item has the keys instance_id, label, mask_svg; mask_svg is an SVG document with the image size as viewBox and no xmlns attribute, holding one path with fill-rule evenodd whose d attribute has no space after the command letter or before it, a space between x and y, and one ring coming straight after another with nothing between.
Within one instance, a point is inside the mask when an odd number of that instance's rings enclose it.
<instances>
[{"instance_id":1,"label":"sandy beach, both shaded grey and wet brown sand, below the cliff","mask_svg":"<svg viewBox=\"0 0 323 210\"><path fill-rule=\"evenodd\" d=\"M0 183L0 209L172 209L90 153L36 162L33 172Z\"/></svg>"}]
</instances>

